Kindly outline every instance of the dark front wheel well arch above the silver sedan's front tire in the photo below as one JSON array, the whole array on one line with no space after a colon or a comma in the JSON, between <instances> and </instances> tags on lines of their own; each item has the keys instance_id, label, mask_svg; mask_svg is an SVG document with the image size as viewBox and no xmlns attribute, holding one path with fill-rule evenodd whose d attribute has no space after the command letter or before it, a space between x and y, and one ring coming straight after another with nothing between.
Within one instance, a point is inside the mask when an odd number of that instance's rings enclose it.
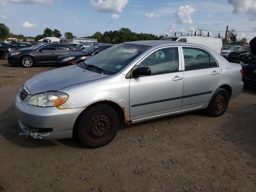
<instances>
[{"instance_id":1,"label":"dark front wheel well arch above the silver sedan's front tire","mask_svg":"<svg viewBox=\"0 0 256 192\"><path fill-rule=\"evenodd\" d=\"M87 110L89 107L92 107L92 106L94 106L94 105L96 105L96 104L106 104L106 105L112 107L112 108L117 112L117 114L118 114L118 116L119 116L119 119L120 119L120 123L123 123L123 122L124 122L124 112L123 112L122 108L121 108L118 104L116 104L115 102L112 102L112 101L99 101L99 102L93 103L93 104L89 105L88 107L86 107L86 108L79 114L79 116L76 118L76 122L75 122L74 127L73 127L73 136L75 136L76 124L77 124L77 122L78 122L78 119L82 116L83 112L84 112L85 110Z\"/></svg>"}]
</instances>

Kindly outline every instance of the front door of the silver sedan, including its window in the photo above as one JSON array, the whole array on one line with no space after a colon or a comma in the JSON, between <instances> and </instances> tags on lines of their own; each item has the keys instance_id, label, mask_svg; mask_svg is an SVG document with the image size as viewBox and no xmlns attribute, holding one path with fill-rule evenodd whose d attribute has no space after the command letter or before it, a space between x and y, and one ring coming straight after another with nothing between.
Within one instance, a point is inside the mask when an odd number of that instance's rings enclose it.
<instances>
[{"instance_id":1,"label":"front door of the silver sedan, including its window","mask_svg":"<svg viewBox=\"0 0 256 192\"><path fill-rule=\"evenodd\" d=\"M138 64L150 67L151 75L130 79L132 121L180 111L184 77L179 52L178 46L158 48Z\"/></svg>"}]
</instances>

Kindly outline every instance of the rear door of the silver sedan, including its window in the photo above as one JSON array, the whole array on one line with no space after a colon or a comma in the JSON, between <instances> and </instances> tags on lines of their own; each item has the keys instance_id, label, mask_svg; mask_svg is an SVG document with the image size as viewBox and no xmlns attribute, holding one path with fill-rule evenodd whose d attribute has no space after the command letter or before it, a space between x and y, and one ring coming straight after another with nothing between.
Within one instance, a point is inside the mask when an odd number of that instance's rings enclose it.
<instances>
[{"instance_id":1,"label":"rear door of the silver sedan, including its window","mask_svg":"<svg viewBox=\"0 0 256 192\"><path fill-rule=\"evenodd\" d=\"M220 68L208 51L182 46L184 90L181 110L202 106L215 90Z\"/></svg>"}]
</instances>

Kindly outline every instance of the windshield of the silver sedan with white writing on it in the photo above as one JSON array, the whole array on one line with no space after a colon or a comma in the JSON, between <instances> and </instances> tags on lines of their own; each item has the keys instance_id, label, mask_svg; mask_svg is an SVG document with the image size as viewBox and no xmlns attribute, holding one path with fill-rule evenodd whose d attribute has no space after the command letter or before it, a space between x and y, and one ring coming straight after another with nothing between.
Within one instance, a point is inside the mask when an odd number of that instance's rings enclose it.
<instances>
[{"instance_id":1,"label":"windshield of the silver sedan with white writing on it","mask_svg":"<svg viewBox=\"0 0 256 192\"><path fill-rule=\"evenodd\" d=\"M96 66L104 74L116 74L148 48L150 46L119 44L96 54L77 66L82 68L86 68L86 65Z\"/></svg>"}]
</instances>

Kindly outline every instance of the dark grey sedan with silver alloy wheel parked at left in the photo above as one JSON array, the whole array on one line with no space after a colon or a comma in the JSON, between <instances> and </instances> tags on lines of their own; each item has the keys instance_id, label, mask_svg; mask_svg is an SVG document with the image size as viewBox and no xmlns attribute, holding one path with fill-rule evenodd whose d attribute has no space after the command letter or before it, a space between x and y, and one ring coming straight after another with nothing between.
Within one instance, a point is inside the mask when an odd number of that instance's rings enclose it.
<instances>
[{"instance_id":1,"label":"dark grey sedan with silver alloy wheel parked at left","mask_svg":"<svg viewBox=\"0 0 256 192\"><path fill-rule=\"evenodd\" d=\"M75 52L81 52L81 49L62 43L43 43L11 51L8 54L8 62L23 67L32 67L34 64L55 64L58 56Z\"/></svg>"}]
</instances>

